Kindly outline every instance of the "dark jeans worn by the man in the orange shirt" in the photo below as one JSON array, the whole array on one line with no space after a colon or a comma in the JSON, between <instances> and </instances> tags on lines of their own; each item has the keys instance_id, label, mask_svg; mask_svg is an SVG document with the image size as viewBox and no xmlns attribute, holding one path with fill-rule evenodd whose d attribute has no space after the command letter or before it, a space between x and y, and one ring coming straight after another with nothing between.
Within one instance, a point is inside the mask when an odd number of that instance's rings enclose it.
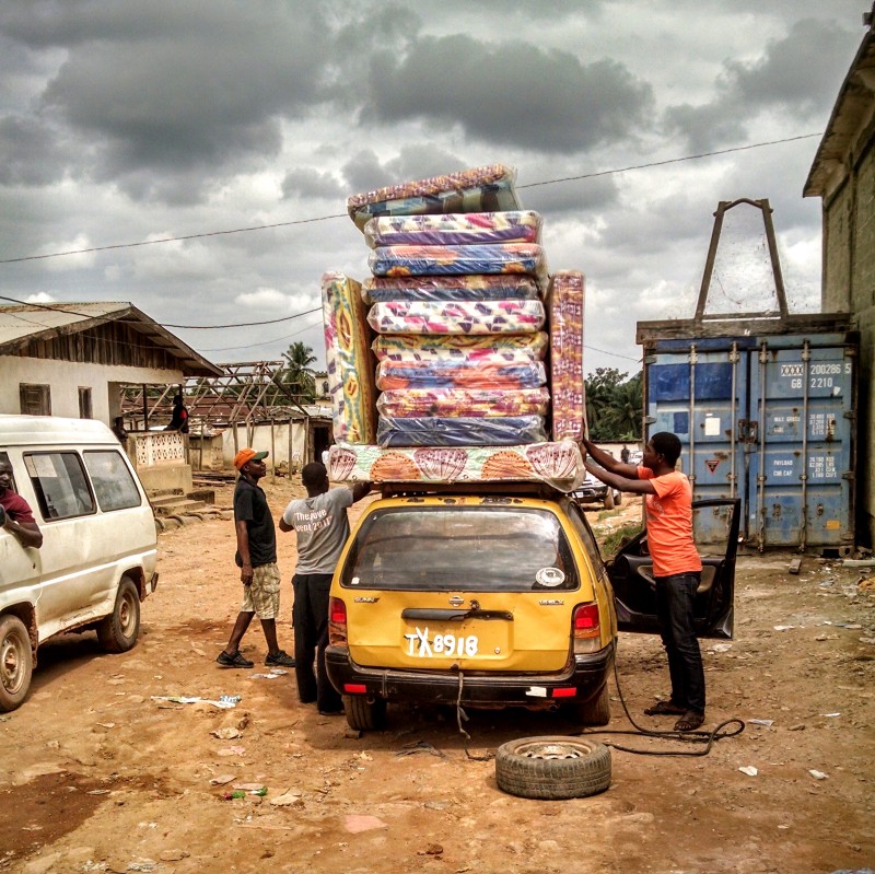
<instances>
[{"instance_id":1,"label":"dark jeans worn by the man in the orange shirt","mask_svg":"<svg viewBox=\"0 0 875 874\"><path fill-rule=\"evenodd\" d=\"M704 713L704 668L696 638L692 604L701 573L656 578L656 616L668 656L672 701Z\"/></svg>"}]
</instances>

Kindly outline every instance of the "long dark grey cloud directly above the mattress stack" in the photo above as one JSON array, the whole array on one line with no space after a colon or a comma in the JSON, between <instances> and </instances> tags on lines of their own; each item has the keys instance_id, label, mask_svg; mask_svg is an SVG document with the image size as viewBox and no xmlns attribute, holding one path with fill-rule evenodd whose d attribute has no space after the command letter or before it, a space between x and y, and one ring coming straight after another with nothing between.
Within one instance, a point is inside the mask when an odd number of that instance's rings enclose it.
<instances>
[{"instance_id":1,"label":"long dark grey cloud directly above the mattress stack","mask_svg":"<svg viewBox=\"0 0 875 874\"><path fill-rule=\"evenodd\" d=\"M457 34L411 40L371 62L363 119L421 120L499 144L570 153L633 137L646 124L649 84L622 63L581 63L535 45Z\"/></svg>"}]
</instances>

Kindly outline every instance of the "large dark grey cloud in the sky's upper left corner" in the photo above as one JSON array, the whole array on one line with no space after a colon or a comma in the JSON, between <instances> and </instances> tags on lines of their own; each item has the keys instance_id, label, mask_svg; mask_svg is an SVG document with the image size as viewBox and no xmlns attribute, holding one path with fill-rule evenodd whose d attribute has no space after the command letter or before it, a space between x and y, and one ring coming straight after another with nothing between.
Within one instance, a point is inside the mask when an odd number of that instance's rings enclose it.
<instances>
[{"instance_id":1,"label":"large dark grey cloud in the sky's upper left corner","mask_svg":"<svg viewBox=\"0 0 875 874\"><path fill-rule=\"evenodd\" d=\"M2 26L34 49L67 49L43 106L96 149L93 177L135 197L186 186L197 196L210 176L276 155L279 118L322 100L327 36L317 9L32 4L13 7ZM155 172L172 184L145 184Z\"/></svg>"}]
</instances>

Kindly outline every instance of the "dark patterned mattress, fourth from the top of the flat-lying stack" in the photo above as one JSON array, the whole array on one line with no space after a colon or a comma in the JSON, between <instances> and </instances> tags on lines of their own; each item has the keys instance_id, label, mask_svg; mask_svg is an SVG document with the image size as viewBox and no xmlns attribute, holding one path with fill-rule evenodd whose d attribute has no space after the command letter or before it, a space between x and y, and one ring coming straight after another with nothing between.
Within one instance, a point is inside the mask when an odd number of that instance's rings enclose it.
<instances>
[{"instance_id":1,"label":"dark patterned mattress, fourth from the top of the flat-lying stack","mask_svg":"<svg viewBox=\"0 0 875 874\"><path fill-rule=\"evenodd\" d=\"M369 277L362 282L365 303L386 301L536 301L535 280L522 273L498 276Z\"/></svg>"}]
</instances>

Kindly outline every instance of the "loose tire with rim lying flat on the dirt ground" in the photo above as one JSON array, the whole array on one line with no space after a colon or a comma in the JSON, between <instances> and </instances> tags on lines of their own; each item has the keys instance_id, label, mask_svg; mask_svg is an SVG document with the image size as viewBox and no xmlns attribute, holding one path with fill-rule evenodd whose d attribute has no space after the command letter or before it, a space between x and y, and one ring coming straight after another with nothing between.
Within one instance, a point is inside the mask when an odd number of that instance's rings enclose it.
<instances>
[{"instance_id":1,"label":"loose tire with rim lying flat on the dirt ground","mask_svg":"<svg viewBox=\"0 0 875 874\"><path fill-rule=\"evenodd\" d=\"M523 737L495 754L499 789L522 799L583 799L610 785L610 750L582 737Z\"/></svg>"}]
</instances>

